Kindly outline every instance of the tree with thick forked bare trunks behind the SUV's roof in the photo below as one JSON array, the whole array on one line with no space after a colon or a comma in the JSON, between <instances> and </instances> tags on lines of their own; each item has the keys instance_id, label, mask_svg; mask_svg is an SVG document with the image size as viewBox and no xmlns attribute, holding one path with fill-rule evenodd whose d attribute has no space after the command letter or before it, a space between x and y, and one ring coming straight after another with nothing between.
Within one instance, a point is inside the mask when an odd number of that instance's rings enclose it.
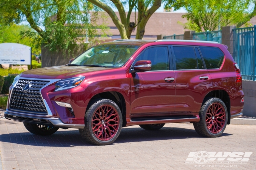
<instances>
[{"instance_id":1,"label":"tree with thick forked bare trunks behind the SUV's roof","mask_svg":"<svg viewBox=\"0 0 256 170\"><path fill-rule=\"evenodd\" d=\"M104 10L113 20L120 32L122 39L130 39L132 30L137 27L136 39L142 39L148 19L161 6L162 0L88 0ZM126 14L124 4L128 3L129 10ZM115 6L119 12L120 20L112 9ZM130 21L133 9L138 10L138 20Z\"/></svg>"}]
</instances>

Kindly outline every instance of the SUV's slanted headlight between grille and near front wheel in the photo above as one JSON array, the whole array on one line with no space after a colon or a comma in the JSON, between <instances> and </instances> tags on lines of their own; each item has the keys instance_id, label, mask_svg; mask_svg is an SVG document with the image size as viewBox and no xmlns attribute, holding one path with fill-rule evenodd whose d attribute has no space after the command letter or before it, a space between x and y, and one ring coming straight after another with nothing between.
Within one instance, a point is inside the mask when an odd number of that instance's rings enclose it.
<instances>
[{"instance_id":1,"label":"SUV's slanted headlight between grille and near front wheel","mask_svg":"<svg viewBox=\"0 0 256 170\"><path fill-rule=\"evenodd\" d=\"M84 80L84 78L85 77L82 76L82 77L73 77L73 78L70 78L70 79L60 80L55 84L55 90L54 91L65 90L65 89L69 89L69 88L79 86L81 84L81 82Z\"/></svg>"}]
</instances>

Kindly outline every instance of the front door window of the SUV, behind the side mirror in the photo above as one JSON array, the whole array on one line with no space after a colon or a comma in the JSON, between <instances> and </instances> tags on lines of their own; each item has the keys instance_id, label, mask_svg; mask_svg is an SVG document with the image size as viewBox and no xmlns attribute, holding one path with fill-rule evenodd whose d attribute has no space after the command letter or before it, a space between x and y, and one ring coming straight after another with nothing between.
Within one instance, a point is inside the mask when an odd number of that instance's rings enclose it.
<instances>
[{"instance_id":1,"label":"front door window of the SUV, behind the side mirror","mask_svg":"<svg viewBox=\"0 0 256 170\"><path fill-rule=\"evenodd\" d=\"M152 47L145 50L136 61L150 60L151 70L169 70L169 54L167 47Z\"/></svg>"}]
</instances>

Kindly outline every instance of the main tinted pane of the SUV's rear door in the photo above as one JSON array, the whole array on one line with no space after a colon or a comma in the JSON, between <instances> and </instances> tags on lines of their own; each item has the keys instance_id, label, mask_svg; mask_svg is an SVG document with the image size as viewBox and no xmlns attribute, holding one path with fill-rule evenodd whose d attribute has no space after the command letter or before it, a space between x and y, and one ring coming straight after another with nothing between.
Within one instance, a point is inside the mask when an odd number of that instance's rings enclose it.
<instances>
[{"instance_id":1,"label":"main tinted pane of the SUV's rear door","mask_svg":"<svg viewBox=\"0 0 256 170\"><path fill-rule=\"evenodd\" d=\"M176 69L197 69L194 47L173 47Z\"/></svg>"}]
</instances>

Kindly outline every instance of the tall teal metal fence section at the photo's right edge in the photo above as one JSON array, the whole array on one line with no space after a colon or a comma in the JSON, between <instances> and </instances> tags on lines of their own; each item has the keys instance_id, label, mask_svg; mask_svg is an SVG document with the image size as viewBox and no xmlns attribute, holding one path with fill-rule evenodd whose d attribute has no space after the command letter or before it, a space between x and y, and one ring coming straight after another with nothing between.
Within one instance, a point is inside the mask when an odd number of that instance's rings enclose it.
<instances>
[{"instance_id":1,"label":"tall teal metal fence section at the photo's right edge","mask_svg":"<svg viewBox=\"0 0 256 170\"><path fill-rule=\"evenodd\" d=\"M238 64L242 79L256 78L256 26L236 28L234 32L234 61Z\"/></svg>"}]
</instances>

